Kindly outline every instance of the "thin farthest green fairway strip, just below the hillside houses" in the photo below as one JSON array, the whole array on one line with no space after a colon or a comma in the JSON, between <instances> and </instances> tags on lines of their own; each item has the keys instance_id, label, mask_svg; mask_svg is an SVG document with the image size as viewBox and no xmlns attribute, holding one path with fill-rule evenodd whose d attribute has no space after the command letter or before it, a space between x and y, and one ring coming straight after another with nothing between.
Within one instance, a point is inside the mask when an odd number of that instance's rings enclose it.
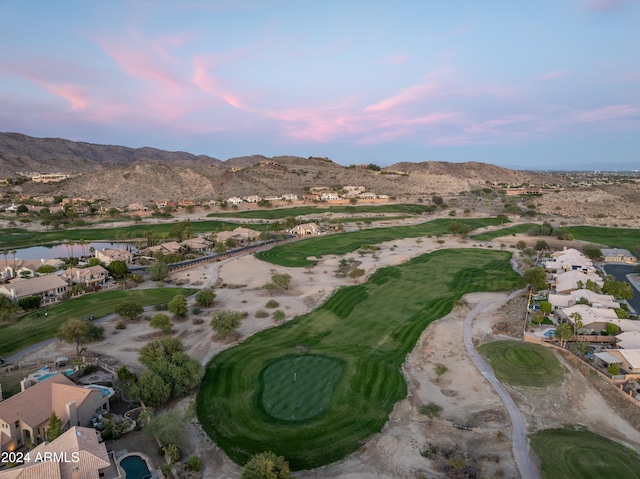
<instances>
[{"instance_id":1,"label":"thin farthest green fairway strip, just below the hillside houses","mask_svg":"<svg viewBox=\"0 0 640 479\"><path fill-rule=\"evenodd\" d=\"M407 213L420 215L433 208L428 205L366 205L366 206L296 206L293 208L260 209L251 211L229 211L227 213L211 213L208 217L216 218L249 218L278 220L289 216L305 216L321 213Z\"/></svg>"}]
</instances>

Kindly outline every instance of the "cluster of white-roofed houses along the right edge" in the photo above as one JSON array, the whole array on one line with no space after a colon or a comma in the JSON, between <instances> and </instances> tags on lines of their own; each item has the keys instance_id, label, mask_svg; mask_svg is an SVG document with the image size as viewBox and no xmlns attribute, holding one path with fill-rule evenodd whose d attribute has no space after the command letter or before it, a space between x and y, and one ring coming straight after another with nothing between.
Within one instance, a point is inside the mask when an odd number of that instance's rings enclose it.
<instances>
[{"instance_id":1,"label":"cluster of white-roofed houses along the right edge","mask_svg":"<svg viewBox=\"0 0 640 479\"><path fill-rule=\"evenodd\" d=\"M636 261L626 250L603 249L602 253L612 262ZM621 305L614 296L587 288L587 285L602 287L604 283L593 262L570 248L552 253L544 266L555 291L547 300L556 321L569 322L575 327L576 318L580 318L582 328L578 334L582 337L599 336L608 324L614 324L619 333L609 338L610 349L595 353L596 360L604 366L618 364L621 374L640 374L640 321L619 318L615 310Z\"/></svg>"}]
</instances>

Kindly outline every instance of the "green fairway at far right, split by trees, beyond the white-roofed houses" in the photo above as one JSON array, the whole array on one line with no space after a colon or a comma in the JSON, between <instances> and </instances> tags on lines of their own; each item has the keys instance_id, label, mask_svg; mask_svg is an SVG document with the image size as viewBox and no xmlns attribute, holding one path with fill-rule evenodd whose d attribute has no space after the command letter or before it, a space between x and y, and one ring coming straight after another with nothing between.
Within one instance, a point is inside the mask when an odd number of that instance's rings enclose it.
<instances>
[{"instance_id":1,"label":"green fairway at far right, split by trees, beyond the white-roofed houses","mask_svg":"<svg viewBox=\"0 0 640 479\"><path fill-rule=\"evenodd\" d=\"M501 236L526 233L535 226L535 223L528 223L510 226L494 231L487 231L474 235L471 238L478 241L491 241ZM624 248L629 251L640 245L640 229L633 228L600 228L597 226L563 226L577 240L589 241L605 245L609 248Z\"/></svg>"}]
</instances>

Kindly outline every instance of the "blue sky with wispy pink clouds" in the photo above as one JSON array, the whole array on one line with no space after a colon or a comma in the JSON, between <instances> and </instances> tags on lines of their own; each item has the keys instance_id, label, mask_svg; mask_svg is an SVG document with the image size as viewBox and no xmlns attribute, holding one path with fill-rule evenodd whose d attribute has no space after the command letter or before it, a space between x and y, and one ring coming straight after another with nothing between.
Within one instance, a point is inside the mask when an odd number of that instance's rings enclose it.
<instances>
[{"instance_id":1,"label":"blue sky with wispy pink clouds","mask_svg":"<svg viewBox=\"0 0 640 479\"><path fill-rule=\"evenodd\" d=\"M0 0L0 131L640 169L640 0Z\"/></svg>"}]
</instances>

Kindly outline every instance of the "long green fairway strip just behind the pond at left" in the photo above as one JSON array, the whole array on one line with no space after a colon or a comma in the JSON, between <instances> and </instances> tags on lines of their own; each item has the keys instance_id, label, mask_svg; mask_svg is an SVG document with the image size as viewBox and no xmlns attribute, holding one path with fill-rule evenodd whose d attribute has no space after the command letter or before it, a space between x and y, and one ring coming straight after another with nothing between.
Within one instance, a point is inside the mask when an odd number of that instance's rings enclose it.
<instances>
[{"instance_id":1,"label":"long green fairway strip just behind the pond at left","mask_svg":"<svg viewBox=\"0 0 640 479\"><path fill-rule=\"evenodd\" d=\"M153 232L156 238L162 238L171 232L171 227L177 220L166 220L161 224L139 223L131 226L121 226L114 228L75 228L64 230L38 231L32 232L21 228L3 230L0 233L0 250L10 250L13 248L24 248L27 246L56 244L66 240L78 241L115 241L117 235L127 235L133 240L144 240L148 232ZM238 226L247 226L256 230L266 228L266 225L240 225L224 221L192 221L191 231L193 233L211 233L234 229Z\"/></svg>"}]
</instances>

